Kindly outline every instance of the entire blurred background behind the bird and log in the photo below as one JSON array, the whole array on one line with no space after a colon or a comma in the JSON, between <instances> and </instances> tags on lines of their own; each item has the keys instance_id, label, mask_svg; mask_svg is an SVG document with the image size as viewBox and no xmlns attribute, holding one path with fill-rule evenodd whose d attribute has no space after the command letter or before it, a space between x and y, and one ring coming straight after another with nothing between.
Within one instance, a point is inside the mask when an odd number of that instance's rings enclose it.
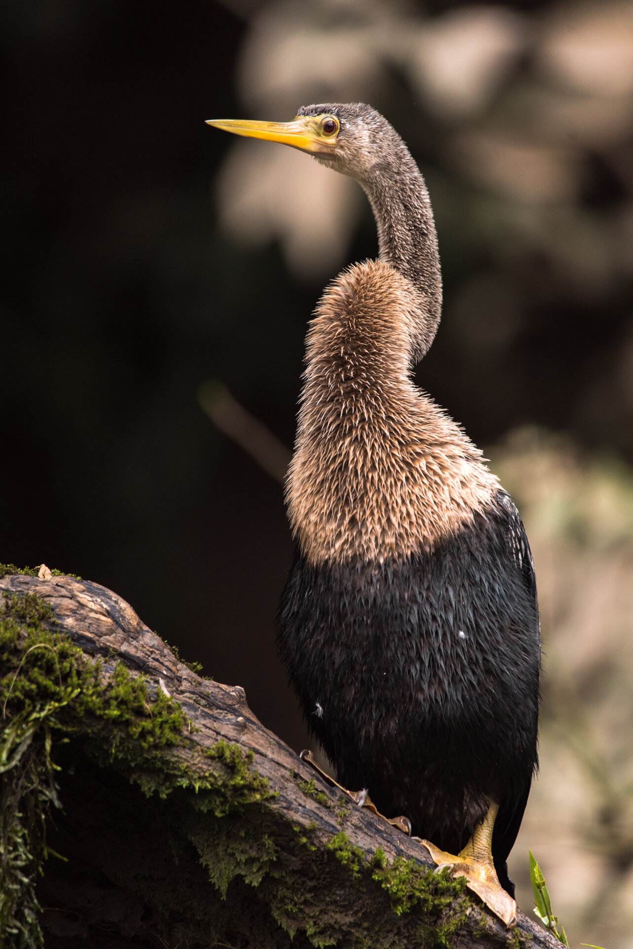
<instances>
[{"instance_id":1,"label":"entire blurred background behind the bird and log","mask_svg":"<svg viewBox=\"0 0 633 949\"><path fill-rule=\"evenodd\" d=\"M274 645L276 475L306 321L375 229L352 181L204 120L371 102L437 219L443 323L418 381L486 448L534 550L519 904L531 847L571 945L633 947L633 0L157 9L0 8L0 559L116 590L308 744Z\"/></svg>"}]
</instances>

